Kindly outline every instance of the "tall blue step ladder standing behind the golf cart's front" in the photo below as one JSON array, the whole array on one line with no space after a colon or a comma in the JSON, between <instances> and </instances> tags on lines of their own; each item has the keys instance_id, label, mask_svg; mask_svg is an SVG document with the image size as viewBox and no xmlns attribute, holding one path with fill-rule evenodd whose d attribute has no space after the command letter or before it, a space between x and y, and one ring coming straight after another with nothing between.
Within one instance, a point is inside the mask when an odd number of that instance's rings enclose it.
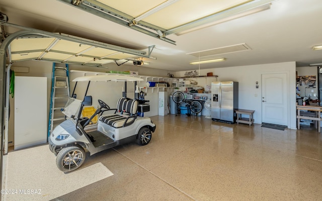
<instances>
[{"instance_id":1,"label":"tall blue step ladder standing behind the golf cart's front","mask_svg":"<svg viewBox=\"0 0 322 201\"><path fill-rule=\"evenodd\" d=\"M68 64L63 65L60 67L57 66L57 63L52 64L48 136L57 125L65 120L61 109L64 108L70 97Z\"/></svg>"}]
</instances>

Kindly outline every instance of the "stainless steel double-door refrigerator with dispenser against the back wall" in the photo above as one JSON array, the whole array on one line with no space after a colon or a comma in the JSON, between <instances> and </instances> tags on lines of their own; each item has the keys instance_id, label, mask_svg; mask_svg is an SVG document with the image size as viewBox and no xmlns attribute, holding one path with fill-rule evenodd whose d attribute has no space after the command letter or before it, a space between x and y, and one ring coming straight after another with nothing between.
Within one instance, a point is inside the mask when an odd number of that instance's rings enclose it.
<instances>
[{"instance_id":1,"label":"stainless steel double-door refrigerator with dispenser against the back wall","mask_svg":"<svg viewBox=\"0 0 322 201\"><path fill-rule=\"evenodd\" d=\"M233 124L238 109L238 82L211 82L211 119Z\"/></svg>"}]
</instances>

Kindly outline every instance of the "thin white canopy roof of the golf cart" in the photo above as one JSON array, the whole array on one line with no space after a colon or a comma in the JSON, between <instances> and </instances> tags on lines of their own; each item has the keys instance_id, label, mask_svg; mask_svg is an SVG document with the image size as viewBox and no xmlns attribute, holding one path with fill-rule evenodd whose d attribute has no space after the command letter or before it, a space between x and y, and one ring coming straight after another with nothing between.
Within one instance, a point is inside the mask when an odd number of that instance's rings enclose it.
<instances>
[{"instance_id":1,"label":"thin white canopy roof of the golf cart","mask_svg":"<svg viewBox=\"0 0 322 201\"><path fill-rule=\"evenodd\" d=\"M127 75L92 75L76 77L72 81L143 81L143 79Z\"/></svg>"}]
</instances>

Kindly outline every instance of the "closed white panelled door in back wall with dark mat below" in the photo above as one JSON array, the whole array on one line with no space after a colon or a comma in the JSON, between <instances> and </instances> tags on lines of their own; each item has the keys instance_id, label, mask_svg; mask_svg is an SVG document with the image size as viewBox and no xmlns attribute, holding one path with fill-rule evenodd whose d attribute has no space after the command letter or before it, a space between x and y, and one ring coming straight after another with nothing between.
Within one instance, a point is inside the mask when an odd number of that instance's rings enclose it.
<instances>
[{"instance_id":1,"label":"closed white panelled door in back wall with dark mat below","mask_svg":"<svg viewBox=\"0 0 322 201\"><path fill-rule=\"evenodd\" d=\"M262 122L287 126L287 74L262 74Z\"/></svg>"}]
</instances>

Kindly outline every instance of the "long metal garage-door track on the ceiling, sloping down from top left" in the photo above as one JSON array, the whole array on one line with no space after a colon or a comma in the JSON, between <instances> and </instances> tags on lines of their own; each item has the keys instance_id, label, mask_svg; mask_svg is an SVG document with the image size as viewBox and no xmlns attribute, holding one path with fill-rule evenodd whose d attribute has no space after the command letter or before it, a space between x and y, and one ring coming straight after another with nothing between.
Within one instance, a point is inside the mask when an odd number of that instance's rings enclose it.
<instances>
[{"instance_id":1,"label":"long metal garage-door track on the ceiling, sloping down from top left","mask_svg":"<svg viewBox=\"0 0 322 201\"><path fill-rule=\"evenodd\" d=\"M66 3L71 6L75 6L78 9L96 15L98 17L104 18L106 20L112 21L119 25L131 28L135 31L141 32L143 34L152 36L156 39L166 41L173 45L176 45L176 41L168 39L166 37L160 37L156 31L160 30L162 32L166 32L167 30L161 27L157 27L155 25L149 24L144 21L136 22L134 17L127 15L121 11L118 11L112 7L109 7L105 4L102 4L95 0L58 0L60 2ZM153 32L149 31L152 30Z\"/></svg>"}]
</instances>

